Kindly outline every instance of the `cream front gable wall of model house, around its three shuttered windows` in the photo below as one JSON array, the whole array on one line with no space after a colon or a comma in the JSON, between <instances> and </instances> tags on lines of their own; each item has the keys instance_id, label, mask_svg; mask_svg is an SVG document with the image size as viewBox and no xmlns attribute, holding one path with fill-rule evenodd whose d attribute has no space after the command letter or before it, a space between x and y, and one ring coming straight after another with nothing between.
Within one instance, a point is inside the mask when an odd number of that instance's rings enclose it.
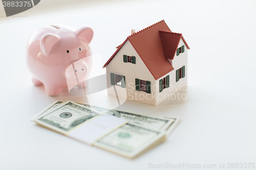
<instances>
[{"instance_id":1,"label":"cream front gable wall of model house, around its three shuttered windows","mask_svg":"<svg viewBox=\"0 0 256 170\"><path fill-rule=\"evenodd\" d=\"M136 64L123 62L123 55L135 56ZM151 95L155 94L155 91L153 89L151 89L151 94L146 93L144 91L135 90L135 79L150 81L151 85L154 85L156 83L156 80L151 74L151 72L148 70L144 62L141 60L141 58L139 57L138 53L135 51L134 47L132 46L129 40L126 41L126 43L122 46L122 48L119 50L116 56L106 66L108 94L116 95L115 89L111 85L111 73L125 76L126 88L122 88L121 86L115 85L118 97L127 97L127 99L130 100L156 105L157 100L151 98Z\"/></svg>"}]
</instances>

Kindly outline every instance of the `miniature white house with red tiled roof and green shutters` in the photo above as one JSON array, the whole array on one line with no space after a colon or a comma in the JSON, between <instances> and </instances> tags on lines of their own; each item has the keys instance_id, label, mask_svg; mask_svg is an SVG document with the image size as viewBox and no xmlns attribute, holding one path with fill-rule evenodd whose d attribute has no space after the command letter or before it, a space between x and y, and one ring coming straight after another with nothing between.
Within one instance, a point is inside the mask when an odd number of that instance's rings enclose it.
<instances>
[{"instance_id":1,"label":"miniature white house with red tiled roof and green shutters","mask_svg":"<svg viewBox=\"0 0 256 170\"><path fill-rule=\"evenodd\" d=\"M158 105L186 86L188 49L182 34L170 31L164 20L132 30L103 66L108 94Z\"/></svg>"}]
</instances>

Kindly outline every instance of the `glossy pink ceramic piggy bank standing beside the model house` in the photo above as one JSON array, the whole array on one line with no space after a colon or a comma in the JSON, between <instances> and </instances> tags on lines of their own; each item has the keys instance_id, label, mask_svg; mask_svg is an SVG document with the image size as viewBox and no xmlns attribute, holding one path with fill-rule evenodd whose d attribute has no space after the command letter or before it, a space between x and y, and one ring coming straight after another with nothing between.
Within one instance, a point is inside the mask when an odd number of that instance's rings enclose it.
<instances>
[{"instance_id":1,"label":"glossy pink ceramic piggy bank standing beside the model house","mask_svg":"<svg viewBox=\"0 0 256 170\"><path fill-rule=\"evenodd\" d=\"M93 30L82 27L46 26L37 30L27 43L27 63L35 85L45 85L49 95L63 88L84 87L92 60L89 43Z\"/></svg>"}]
</instances>

